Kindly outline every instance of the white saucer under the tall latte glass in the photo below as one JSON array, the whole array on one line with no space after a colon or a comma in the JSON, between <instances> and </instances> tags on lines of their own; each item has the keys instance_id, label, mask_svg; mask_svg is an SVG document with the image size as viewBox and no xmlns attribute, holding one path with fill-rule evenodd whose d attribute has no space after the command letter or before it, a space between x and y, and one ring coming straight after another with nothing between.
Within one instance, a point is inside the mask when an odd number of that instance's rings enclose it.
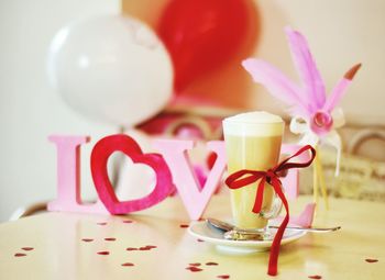
<instances>
[{"instance_id":1,"label":"white saucer under the tall latte glass","mask_svg":"<svg viewBox=\"0 0 385 280\"><path fill-rule=\"evenodd\" d=\"M271 229L273 233L275 229ZM272 247L273 240L228 240L224 239L220 231L215 231L208 227L206 221L193 222L188 228L188 233L199 239L216 245L217 249L235 255L254 254L265 251ZM288 244L305 236L305 231L286 229L280 245Z\"/></svg>"}]
</instances>

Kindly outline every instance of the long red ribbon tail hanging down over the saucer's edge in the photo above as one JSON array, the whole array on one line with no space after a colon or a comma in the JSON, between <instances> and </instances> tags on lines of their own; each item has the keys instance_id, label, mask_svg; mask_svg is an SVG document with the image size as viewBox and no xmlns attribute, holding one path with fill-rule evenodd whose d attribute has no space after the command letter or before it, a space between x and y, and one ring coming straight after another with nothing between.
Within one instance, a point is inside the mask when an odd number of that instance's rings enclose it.
<instances>
[{"instance_id":1,"label":"long red ribbon tail hanging down over the saucer's edge","mask_svg":"<svg viewBox=\"0 0 385 280\"><path fill-rule=\"evenodd\" d=\"M279 256L279 248L280 248L280 240L284 236L286 226L288 224L289 221L289 209L288 209L288 203L287 200L285 198L284 192L282 191L280 188L280 181L276 178L272 179L272 186L274 187L274 190L276 191L276 193L278 194L279 199L282 200L285 210L286 210L286 215L284 221L280 223L277 233L274 236L274 240L272 244L272 249L270 253L270 259L268 259L268 270L267 270L267 275L270 276L276 276L278 272L278 256Z\"/></svg>"}]
</instances>

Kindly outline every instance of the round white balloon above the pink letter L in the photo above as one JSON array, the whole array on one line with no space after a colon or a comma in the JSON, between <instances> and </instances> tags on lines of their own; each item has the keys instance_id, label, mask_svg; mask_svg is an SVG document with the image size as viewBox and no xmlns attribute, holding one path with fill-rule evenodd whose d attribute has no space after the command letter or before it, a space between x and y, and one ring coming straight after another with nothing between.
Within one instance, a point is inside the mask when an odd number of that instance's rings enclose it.
<instances>
[{"instance_id":1,"label":"round white balloon above the pink letter L","mask_svg":"<svg viewBox=\"0 0 385 280\"><path fill-rule=\"evenodd\" d=\"M174 70L166 48L144 23L99 15L58 31L50 47L48 76L76 111L131 126L166 105Z\"/></svg>"}]
</instances>

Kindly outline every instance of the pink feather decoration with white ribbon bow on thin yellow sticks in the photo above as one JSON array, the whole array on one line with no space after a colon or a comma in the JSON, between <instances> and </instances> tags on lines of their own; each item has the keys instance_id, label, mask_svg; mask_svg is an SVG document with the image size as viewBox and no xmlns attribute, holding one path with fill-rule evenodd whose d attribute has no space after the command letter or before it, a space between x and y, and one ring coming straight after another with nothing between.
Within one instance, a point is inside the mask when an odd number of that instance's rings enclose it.
<instances>
[{"instance_id":1,"label":"pink feather decoration with white ribbon bow on thin yellow sticks","mask_svg":"<svg viewBox=\"0 0 385 280\"><path fill-rule=\"evenodd\" d=\"M285 33L301 86L296 85L279 69L262 59L249 58L242 65L255 82L263 85L273 97L289 107L290 130L293 133L302 135L299 144L317 147L319 143L326 143L337 149L336 175L338 175L342 144L336 128L344 123L344 117L342 111L337 110L337 105L361 68L361 64L354 65L327 97L324 82L317 69L306 38L290 27L286 27ZM319 152L318 155L320 155ZM319 177L319 180L315 179L315 199L317 198L318 181L320 181L326 198L322 166L319 158L316 158L315 163L317 166L315 173L318 173Z\"/></svg>"}]
</instances>

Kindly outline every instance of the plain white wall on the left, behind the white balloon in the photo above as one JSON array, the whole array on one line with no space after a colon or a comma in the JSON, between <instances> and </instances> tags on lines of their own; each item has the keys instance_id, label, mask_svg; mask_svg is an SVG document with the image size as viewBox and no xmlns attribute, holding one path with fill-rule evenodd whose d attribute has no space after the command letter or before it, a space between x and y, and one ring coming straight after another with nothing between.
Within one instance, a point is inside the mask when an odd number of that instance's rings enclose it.
<instances>
[{"instance_id":1,"label":"plain white wall on the left, behind the white balloon","mask_svg":"<svg viewBox=\"0 0 385 280\"><path fill-rule=\"evenodd\" d=\"M61 100L47 81L46 56L53 36L69 21L118 12L118 0L0 1L0 221L19 206L56 195L56 152L48 135L98 139L114 133L114 127L88 122ZM88 146L81 176L86 195L91 195Z\"/></svg>"}]
</instances>

